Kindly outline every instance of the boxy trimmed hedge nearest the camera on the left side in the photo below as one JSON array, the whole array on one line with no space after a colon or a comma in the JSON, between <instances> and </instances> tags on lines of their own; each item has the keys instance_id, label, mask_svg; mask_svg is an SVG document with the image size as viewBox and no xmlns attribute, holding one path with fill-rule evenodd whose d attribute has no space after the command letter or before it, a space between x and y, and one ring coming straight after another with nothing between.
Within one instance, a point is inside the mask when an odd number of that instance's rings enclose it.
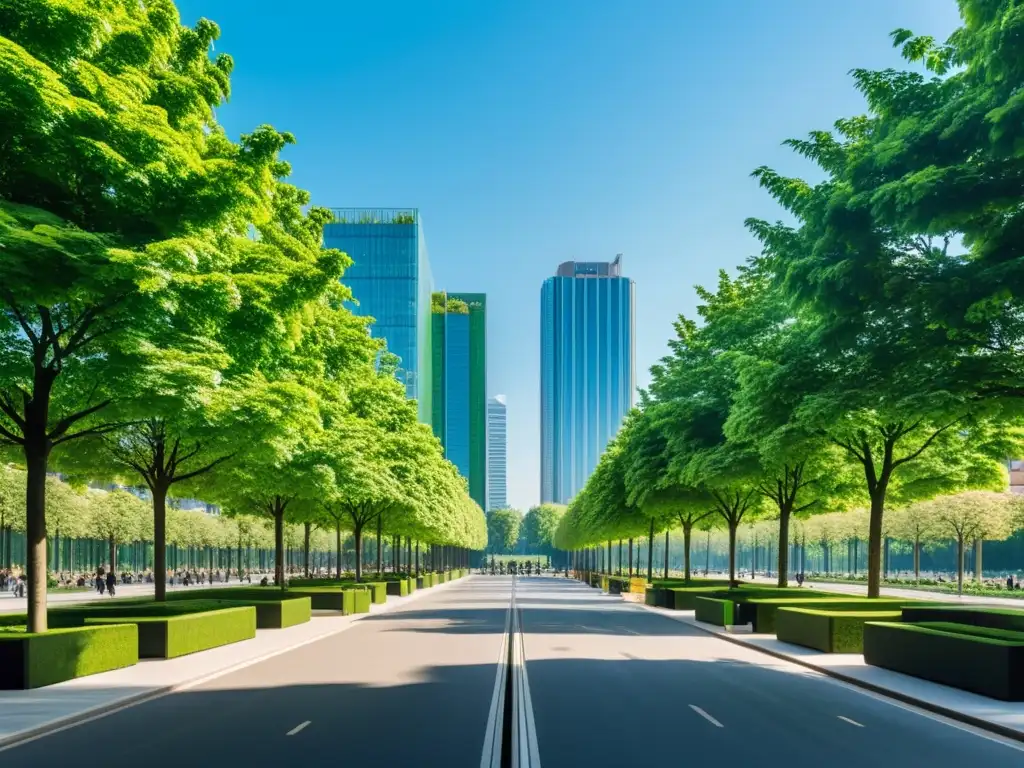
<instances>
[{"instance_id":1,"label":"boxy trimmed hedge nearest the camera on the left side","mask_svg":"<svg viewBox=\"0 0 1024 768\"><path fill-rule=\"evenodd\" d=\"M138 664L134 624L0 632L0 690L53 685Z\"/></svg>"}]
</instances>

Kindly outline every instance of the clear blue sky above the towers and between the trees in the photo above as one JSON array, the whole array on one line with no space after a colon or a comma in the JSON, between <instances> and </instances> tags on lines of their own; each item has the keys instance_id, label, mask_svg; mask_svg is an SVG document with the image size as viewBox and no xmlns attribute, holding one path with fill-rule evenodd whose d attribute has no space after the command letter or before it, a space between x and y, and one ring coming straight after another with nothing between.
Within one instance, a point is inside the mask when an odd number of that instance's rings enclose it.
<instances>
[{"instance_id":1,"label":"clear blue sky above the towers and between the trees","mask_svg":"<svg viewBox=\"0 0 1024 768\"><path fill-rule=\"evenodd\" d=\"M624 253L637 378L778 210L759 165L863 112L848 73L898 67L888 33L945 38L953 0L178 0L234 57L232 135L298 137L325 206L419 208L438 288L488 301L488 389L508 395L509 501L539 497L539 297L571 258Z\"/></svg>"}]
</instances>

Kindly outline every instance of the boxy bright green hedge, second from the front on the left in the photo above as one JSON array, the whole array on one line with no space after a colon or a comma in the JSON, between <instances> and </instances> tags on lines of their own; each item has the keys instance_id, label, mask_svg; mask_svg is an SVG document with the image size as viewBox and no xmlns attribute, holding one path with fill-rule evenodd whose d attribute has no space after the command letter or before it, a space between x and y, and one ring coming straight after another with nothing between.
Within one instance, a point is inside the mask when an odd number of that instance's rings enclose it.
<instances>
[{"instance_id":1,"label":"boxy bright green hedge, second from the front on the left","mask_svg":"<svg viewBox=\"0 0 1024 768\"><path fill-rule=\"evenodd\" d=\"M251 605L180 615L91 615L85 620L86 626L119 622L138 626L140 658L176 658L256 637L256 608Z\"/></svg>"}]
</instances>

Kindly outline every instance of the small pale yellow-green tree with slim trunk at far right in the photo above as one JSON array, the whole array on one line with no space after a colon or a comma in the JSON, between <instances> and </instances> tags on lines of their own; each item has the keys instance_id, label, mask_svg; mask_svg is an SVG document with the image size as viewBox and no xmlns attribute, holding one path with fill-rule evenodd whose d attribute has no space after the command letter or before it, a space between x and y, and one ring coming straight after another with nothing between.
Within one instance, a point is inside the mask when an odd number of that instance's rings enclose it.
<instances>
[{"instance_id":1,"label":"small pale yellow-green tree with slim trunk at far right","mask_svg":"<svg viewBox=\"0 0 1024 768\"><path fill-rule=\"evenodd\" d=\"M925 513L935 518L936 529L956 543L956 585L964 591L966 544L986 538L1006 539L1013 528L1019 500L1010 494L968 490L924 502Z\"/></svg>"}]
</instances>

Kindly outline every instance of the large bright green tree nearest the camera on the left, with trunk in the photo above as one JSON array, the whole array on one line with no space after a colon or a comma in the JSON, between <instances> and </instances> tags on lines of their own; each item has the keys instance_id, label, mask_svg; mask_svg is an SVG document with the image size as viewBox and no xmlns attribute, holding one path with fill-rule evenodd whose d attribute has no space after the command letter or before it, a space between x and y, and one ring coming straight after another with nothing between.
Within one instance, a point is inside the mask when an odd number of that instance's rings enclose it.
<instances>
[{"instance_id":1,"label":"large bright green tree nearest the camera on the left, with trunk","mask_svg":"<svg viewBox=\"0 0 1024 768\"><path fill-rule=\"evenodd\" d=\"M0 19L0 439L27 469L28 625L43 632L51 452L114 429L123 382L159 375L231 306L237 285L205 274L208 233L269 216L292 139L236 144L217 126L232 65L208 55L214 24L186 29L166 3L63 3L45 25L37 10Z\"/></svg>"}]
</instances>

